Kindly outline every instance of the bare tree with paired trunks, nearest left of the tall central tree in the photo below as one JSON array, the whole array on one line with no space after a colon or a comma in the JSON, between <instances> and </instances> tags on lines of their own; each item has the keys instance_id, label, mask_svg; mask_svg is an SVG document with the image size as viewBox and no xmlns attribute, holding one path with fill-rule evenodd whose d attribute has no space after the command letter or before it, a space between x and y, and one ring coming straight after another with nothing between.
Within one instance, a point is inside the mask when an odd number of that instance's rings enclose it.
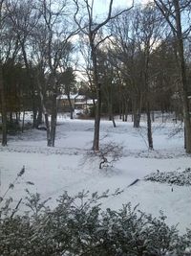
<instances>
[{"instance_id":1,"label":"bare tree with paired trunks, nearest left of the tall central tree","mask_svg":"<svg viewBox=\"0 0 191 256\"><path fill-rule=\"evenodd\" d=\"M77 33L77 30L69 22L70 12L67 0L39 1L39 9L47 35L44 47L46 49L47 68L49 70L49 96L51 99L51 123L49 123L48 112L46 111L45 114L47 141L49 147L54 147L57 117L56 98L59 87L58 69L60 68L61 59L65 56L67 49L69 49L70 39ZM60 26L60 21L62 21L62 26Z\"/></svg>"}]
</instances>

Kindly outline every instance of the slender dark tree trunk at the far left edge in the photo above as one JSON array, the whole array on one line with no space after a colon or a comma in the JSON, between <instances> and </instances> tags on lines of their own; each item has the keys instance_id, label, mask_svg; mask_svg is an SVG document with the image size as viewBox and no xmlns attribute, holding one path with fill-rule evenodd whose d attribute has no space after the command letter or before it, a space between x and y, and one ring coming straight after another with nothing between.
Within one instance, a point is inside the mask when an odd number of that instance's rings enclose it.
<instances>
[{"instance_id":1,"label":"slender dark tree trunk at the far left edge","mask_svg":"<svg viewBox=\"0 0 191 256\"><path fill-rule=\"evenodd\" d=\"M6 96L3 81L2 64L0 63L0 92L1 92L1 117L2 117L2 146L7 146L7 109Z\"/></svg>"}]
</instances>

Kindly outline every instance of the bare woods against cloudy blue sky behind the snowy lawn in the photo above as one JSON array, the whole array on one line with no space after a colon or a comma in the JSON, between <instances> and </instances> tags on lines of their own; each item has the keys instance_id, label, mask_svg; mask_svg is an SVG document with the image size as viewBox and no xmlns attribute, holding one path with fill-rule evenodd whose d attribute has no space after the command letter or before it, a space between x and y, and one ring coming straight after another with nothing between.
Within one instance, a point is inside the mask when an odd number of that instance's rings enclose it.
<instances>
[{"instance_id":1,"label":"bare woods against cloudy blue sky behind the snowy lawn","mask_svg":"<svg viewBox=\"0 0 191 256\"><path fill-rule=\"evenodd\" d=\"M152 150L152 113L176 113L191 153L190 0L154 0L105 16L88 0L0 1L0 92L2 145L20 113L32 111L33 128L43 122L54 146L57 97L83 92L95 104L93 150L99 150L101 115L115 126L147 116ZM80 76L79 76L80 74ZM71 109L73 112L73 109ZM71 116L73 118L73 116Z\"/></svg>"}]
</instances>

